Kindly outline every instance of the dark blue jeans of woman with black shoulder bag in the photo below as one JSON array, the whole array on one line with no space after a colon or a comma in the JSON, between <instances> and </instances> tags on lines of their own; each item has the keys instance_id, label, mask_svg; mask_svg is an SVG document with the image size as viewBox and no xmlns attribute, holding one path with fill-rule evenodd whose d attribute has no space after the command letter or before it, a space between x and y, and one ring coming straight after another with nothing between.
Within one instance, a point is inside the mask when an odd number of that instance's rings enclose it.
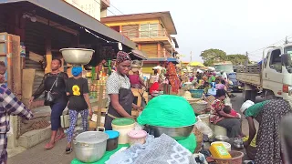
<instances>
[{"instance_id":1,"label":"dark blue jeans of woman with black shoulder bag","mask_svg":"<svg viewBox=\"0 0 292 164\"><path fill-rule=\"evenodd\" d=\"M51 107L51 129L57 131L57 128L61 128L60 116L63 114L63 110L66 108L67 102L57 102L52 104Z\"/></svg>"}]
</instances>

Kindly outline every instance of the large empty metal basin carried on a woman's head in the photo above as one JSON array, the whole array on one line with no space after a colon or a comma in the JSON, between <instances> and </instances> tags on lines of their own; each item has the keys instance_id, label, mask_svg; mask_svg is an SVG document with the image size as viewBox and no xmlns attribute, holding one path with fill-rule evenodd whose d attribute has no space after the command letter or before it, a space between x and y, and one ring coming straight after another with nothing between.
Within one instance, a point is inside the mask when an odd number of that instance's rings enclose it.
<instances>
[{"instance_id":1,"label":"large empty metal basin carried on a woman's head","mask_svg":"<svg viewBox=\"0 0 292 164\"><path fill-rule=\"evenodd\" d=\"M60 49L66 63L71 65L87 65L89 64L93 53L92 49L84 48L63 48Z\"/></svg>"}]
</instances>

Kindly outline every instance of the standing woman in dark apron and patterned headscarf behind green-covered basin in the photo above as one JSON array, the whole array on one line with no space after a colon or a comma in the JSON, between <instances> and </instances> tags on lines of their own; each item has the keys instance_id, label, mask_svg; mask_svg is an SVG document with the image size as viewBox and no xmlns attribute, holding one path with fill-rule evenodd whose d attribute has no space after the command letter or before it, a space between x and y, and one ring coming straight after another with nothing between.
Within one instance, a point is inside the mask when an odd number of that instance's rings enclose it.
<instances>
[{"instance_id":1,"label":"standing woman in dark apron and patterned headscarf behind green-covered basin","mask_svg":"<svg viewBox=\"0 0 292 164\"><path fill-rule=\"evenodd\" d=\"M142 109L133 104L134 96L130 90L130 56L123 51L117 54L117 69L107 80L107 92L109 95L109 109L105 118L105 128L111 129L111 121L114 118L134 118L131 109Z\"/></svg>"}]
</instances>

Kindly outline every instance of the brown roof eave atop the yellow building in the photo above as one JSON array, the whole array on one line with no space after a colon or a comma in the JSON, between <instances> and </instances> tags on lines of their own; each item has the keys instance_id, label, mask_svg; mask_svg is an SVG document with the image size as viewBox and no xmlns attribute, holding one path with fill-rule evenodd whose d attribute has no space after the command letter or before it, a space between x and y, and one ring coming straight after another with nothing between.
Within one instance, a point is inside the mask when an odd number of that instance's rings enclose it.
<instances>
[{"instance_id":1,"label":"brown roof eave atop the yellow building","mask_svg":"<svg viewBox=\"0 0 292 164\"><path fill-rule=\"evenodd\" d=\"M121 21L133 21L133 20L145 20L145 19L161 19L162 23L170 35L177 35L176 28L174 26L172 15L170 11L166 12L153 12L153 13L141 13L133 15L112 15L102 17L102 23L121 22Z\"/></svg>"}]
</instances>

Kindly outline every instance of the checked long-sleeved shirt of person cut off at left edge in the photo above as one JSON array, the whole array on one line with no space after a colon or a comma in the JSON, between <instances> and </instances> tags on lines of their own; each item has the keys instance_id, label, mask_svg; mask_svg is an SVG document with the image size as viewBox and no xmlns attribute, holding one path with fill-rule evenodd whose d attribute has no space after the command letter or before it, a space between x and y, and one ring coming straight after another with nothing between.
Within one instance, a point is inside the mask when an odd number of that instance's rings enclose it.
<instances>
[{"instance_id":1,"label":"checked long-sleeved shirt of person cut off at left edge","mask_svg":"<svg viewBox=\"0 0 292 164\"><path fill-rule=\"evenodd\" d=\"M0 133L9 131L10 115L26 119L33 117L32 112L5 85L0 87L0 103Z\"/></svg>"}]
</instances>

